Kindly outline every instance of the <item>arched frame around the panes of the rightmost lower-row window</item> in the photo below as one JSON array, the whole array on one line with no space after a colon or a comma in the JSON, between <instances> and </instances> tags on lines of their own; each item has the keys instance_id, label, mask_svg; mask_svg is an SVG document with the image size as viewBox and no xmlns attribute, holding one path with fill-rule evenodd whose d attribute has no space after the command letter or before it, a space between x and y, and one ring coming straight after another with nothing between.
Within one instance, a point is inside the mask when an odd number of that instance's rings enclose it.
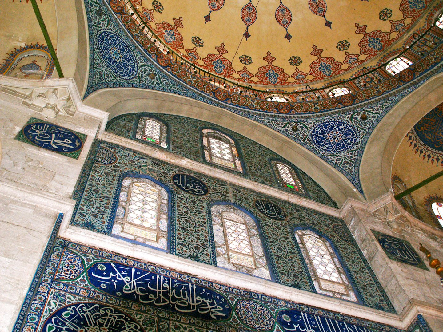
<instances>
[{"instance_id":1,"label":"arched frame around the panes of the rightmost lower-row window","mask_svg":"<svg viewBox=\"0 0 443 332\"><path fill-rule=\"evenodd\" d=\"M303 264L303 268L304 268L304 270L305 270L306 273L307 273L307 277L310 278L310 279L309 279L309 282L311 283L312 289L315 291L315 293L320 294L320 295L325 295L325 296L333 297L333 298L338 298L338 299L340 299L340 300L348 301L348 302L352 302L352 303L358 303L358 304L363 304L363 303L364 303L363 301L361 301L360 293L358 292L357 287L355 287L354 278L353 278L352 274L350 274L350 271L349 271L349 269L348 269L347 264L345 264L345 263L343 262L342 257L341 257L341 255L340 255L339 251L337 250L337 247L334 245L334 242L332 242L331 239L330 239L328 236L326 236L325 234L323 234L323 232L319 232L317 229L315 229L315 228L313 228L313 227L311 227L311 226L307 226L307 225L291 225L291 226L289 227L289 230L290 230L290 232L291 232L292 240L293 240L293 242L294 242L294 244L295 244L295 246L296 246L297 252L299 253L300 258L303 260L303 263L304 263L304 264ZM332 248L332 251L333 251L335 257L336 257L337 260L338 260L338 263L340 263L340 267L341 267L341 269L343 270L343 272L344 272L346 278L347 278L348 281L349 281L349 286L352 288L352 290L353 290L353 292L354 292L354 295L355 295L355 298L357 299L357 301L347 300L347 299L343 299L343 298L340 298L340 297L335 297L335 296L330 295L330 294L319 293L319 292L317 291L317 289L315 288L315 285L314 285L313 279L314 279L314 278L319 278L319 277L318 277L317 275L314 277L314 276L311 274L311 271L309 270L308 265L307 265L308 262L306 261L304 255L303 255L302 248L300 248L299 243L298 243L298 241L297 241L297 238L296 238L296 236L295 236L295 232L296 232L296 231L306 231L306 230L315 233L316 235L318 235L319 237L323 238L324 240L326 240L326 241L329 243L329 245L330 245L330 247ZM326 248L327 248L327 247L326 247ZM311 258L309 257L308 259L309 259L309 263L312 264L312 262L311 262ZM314 268L314 267L312 267L312 268ZM316 272L314 272L314 273L316 274Z\"/></svg>"}]
</instances>

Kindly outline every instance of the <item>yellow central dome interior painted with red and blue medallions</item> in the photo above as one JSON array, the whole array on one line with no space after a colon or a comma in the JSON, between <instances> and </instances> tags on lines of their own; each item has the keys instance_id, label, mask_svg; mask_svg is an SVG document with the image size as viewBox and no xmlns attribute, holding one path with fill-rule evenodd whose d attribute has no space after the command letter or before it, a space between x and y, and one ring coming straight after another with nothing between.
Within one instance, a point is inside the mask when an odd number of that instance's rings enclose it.
<instances>
[{"instance_id":1,"label":"yellow central dome interior painted with red and blue medallions","mask_svg":"<svg viewBox=\"0 0 443 332\"><path fill-rule=\"evenodd\" d=\"M349 78L398 47L432 3L130 1L173 52L216 76L263 87Z\"/></svg>"}]
</instances>

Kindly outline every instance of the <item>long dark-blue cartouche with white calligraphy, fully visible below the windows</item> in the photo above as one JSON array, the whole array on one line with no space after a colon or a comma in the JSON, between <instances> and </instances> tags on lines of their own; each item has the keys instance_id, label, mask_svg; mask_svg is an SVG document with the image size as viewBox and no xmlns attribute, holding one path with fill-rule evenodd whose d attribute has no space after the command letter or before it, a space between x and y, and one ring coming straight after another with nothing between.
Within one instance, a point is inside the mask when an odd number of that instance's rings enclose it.
<instances>
[{"instance_id":1,"label":"long dark-blue cartouche with white calligraphy, fully visible below the windows","mask_svg":"<svg viewBox=\"0 0 443 332\"><path fill-rule=\"evenodd\" d=\"M225 320L232 311L214 290L119 263L95 263L87 275L102 292L205 320Z\"/></svg>"}]
</instances>

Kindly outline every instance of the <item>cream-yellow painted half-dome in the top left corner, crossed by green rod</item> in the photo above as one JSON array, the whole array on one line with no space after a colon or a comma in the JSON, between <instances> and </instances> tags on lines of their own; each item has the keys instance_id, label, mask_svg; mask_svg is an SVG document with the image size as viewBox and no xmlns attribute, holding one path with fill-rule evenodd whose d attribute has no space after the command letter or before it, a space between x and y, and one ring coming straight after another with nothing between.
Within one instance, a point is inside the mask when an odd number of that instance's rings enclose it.
<instances>
[{"instance_id":1,"label":"cream-yellow painted half-dome in the top left corner, crossed by green rod","mask_svg":"<svg viewBox=\"0 0 443 332\"><path fill-rule=\"evenodd\" d=\"M54 1L38 1L40 12L57 48L57 18ZM34 10L28 1L4 1L0 22L0 74L42 80L51 78L54 62L39 26ZM17 13L20 15L17 15Z\"/></svg>"}]
</instances>

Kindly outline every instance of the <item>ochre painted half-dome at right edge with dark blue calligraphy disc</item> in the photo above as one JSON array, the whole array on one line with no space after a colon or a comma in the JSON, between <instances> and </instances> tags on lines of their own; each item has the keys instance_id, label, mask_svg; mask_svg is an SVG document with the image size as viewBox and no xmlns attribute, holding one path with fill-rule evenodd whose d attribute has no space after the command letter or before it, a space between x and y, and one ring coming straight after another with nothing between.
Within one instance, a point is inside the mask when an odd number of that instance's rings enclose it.
<instances>
[{"instance_id":1,"label":"ochre painted half-dome at right edge with dark blue calligraphy disc","mask_svg":"<svg viewBox=\"0 0 443 332\"><path fill-rule=\"evenodd\" d=\"M392 190L398 194L443 168L443 104L433 108L404 137L392 164ZM443 178L437 178L400 198L403 208L424 223L442 228L432 210L443 203Z\"/></svg>"}]
</instances>

